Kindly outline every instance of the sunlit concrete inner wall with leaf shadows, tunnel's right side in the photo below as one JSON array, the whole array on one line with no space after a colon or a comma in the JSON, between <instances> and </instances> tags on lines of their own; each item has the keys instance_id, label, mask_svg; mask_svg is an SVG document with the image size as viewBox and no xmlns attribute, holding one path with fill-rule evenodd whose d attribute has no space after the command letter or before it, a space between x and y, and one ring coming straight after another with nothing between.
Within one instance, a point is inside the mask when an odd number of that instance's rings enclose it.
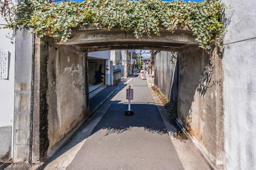
<instances>
[{"instance_id":1,"label":"sunlit concrete inner wall with leaf shadows, tunnel's right side","mask_svg":"<svg viewBox=\"0 0 256 170\"><path fill-rule=\"evenodd\" d=\"M211 51L214 54L217 49ZM223 168L222 63L199 48L178 53L178 115L194 144L218 169Z\"/></svg>"}]
</instances>

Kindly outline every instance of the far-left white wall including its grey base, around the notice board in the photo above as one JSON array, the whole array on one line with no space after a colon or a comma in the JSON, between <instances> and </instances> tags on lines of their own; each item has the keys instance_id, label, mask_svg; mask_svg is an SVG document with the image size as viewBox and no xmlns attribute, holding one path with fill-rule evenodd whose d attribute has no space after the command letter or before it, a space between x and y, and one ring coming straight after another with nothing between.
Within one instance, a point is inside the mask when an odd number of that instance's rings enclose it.
<instances>
[{"instance_id":1,"label":"far-left white wall including its grey base, around the notice board","mask_svg":"<svg viewBox=\"0 0 256 170\"><path fill-rule=\"evenodd\" d=\"M6 24L0 16L0 24ZM0 26L2 27L2 26ZM0 161L11 158L14 112L15 34L11 29L0 29L0 49L9 51L8 79L0 79Z\"/></svg>"}]
</instances>

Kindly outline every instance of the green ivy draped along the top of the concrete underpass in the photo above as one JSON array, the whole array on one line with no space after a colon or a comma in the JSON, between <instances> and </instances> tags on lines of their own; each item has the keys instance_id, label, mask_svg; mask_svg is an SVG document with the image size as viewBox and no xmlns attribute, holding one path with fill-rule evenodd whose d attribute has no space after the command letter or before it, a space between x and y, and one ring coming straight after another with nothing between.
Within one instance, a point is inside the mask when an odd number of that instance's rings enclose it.
<instances>
[{"instance_id":1,"label":"green ivy draped along the top of the concrete underpass","mask_svg":"<svg viewBox=\"0 0 256 170\"><path fill-rule=\"evenodd\" d=\"M49 4L47 0L23 0L12 8L7 19L9 25L35 28L34 33L43 36L53 34L65 42L72 28L100 23L111 29L118 26L133 31L137 38L143 34L160 36L159 26L163 25L174 32L177 24L189 26L200 47L210 49L214 42L212 33L223 37L222 9L226 8L220 0L202 2L162 1L162 0L84 0Z\"/></svg>"}]
</instances>

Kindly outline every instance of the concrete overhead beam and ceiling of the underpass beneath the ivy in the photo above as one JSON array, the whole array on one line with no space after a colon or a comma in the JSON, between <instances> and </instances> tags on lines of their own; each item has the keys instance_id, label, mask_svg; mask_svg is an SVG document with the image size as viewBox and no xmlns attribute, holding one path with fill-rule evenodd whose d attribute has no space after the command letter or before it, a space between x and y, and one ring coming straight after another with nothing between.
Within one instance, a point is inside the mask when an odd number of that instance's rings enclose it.
<instances>
[{"instance_id":1,"label":"concrete overhead beam and ceiling of the underpass beneath the ivy","mask_svg":"<svg viewBox=\"0 0 256 170\"><path fill-rule=\"evenodd\" d=\"M161 50L161 51L180 51L186 44L198 45L195 41L196 36L187 26L178 24L171 34L170 31L160 25L159 32L161 36L143 34L141 39L137 39L133 32L127 32L118 27L111 30L107 26L95 23L93 26L77 26L71 35L71 38L64 42L66 45L79 44L79 48L85 52L107 51L107 50L124 50L124 49L141 49L141 50ZM55 38L51 42L59 43L60 38Z\"/></svg>"}]
</instances>

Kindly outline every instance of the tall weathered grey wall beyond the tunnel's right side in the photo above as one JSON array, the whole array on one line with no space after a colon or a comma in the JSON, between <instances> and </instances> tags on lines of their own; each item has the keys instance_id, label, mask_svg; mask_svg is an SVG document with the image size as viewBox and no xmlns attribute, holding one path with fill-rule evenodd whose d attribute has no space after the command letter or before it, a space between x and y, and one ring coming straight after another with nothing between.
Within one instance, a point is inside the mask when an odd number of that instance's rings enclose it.
<instances>
[{"instance_id":1,"label":"tall weathered grey wall beyond the tunnel's right side","mask_svg":"<svg viewBox=\"0 0 256 170\"><path fill-rule=\"evenodd\" d=\"M168 101L177 104L178 97L178 67L177 62L171 61L172 53L159 51L155 54L154 85L161 91Z\"/></svg>"}]
</instances>

